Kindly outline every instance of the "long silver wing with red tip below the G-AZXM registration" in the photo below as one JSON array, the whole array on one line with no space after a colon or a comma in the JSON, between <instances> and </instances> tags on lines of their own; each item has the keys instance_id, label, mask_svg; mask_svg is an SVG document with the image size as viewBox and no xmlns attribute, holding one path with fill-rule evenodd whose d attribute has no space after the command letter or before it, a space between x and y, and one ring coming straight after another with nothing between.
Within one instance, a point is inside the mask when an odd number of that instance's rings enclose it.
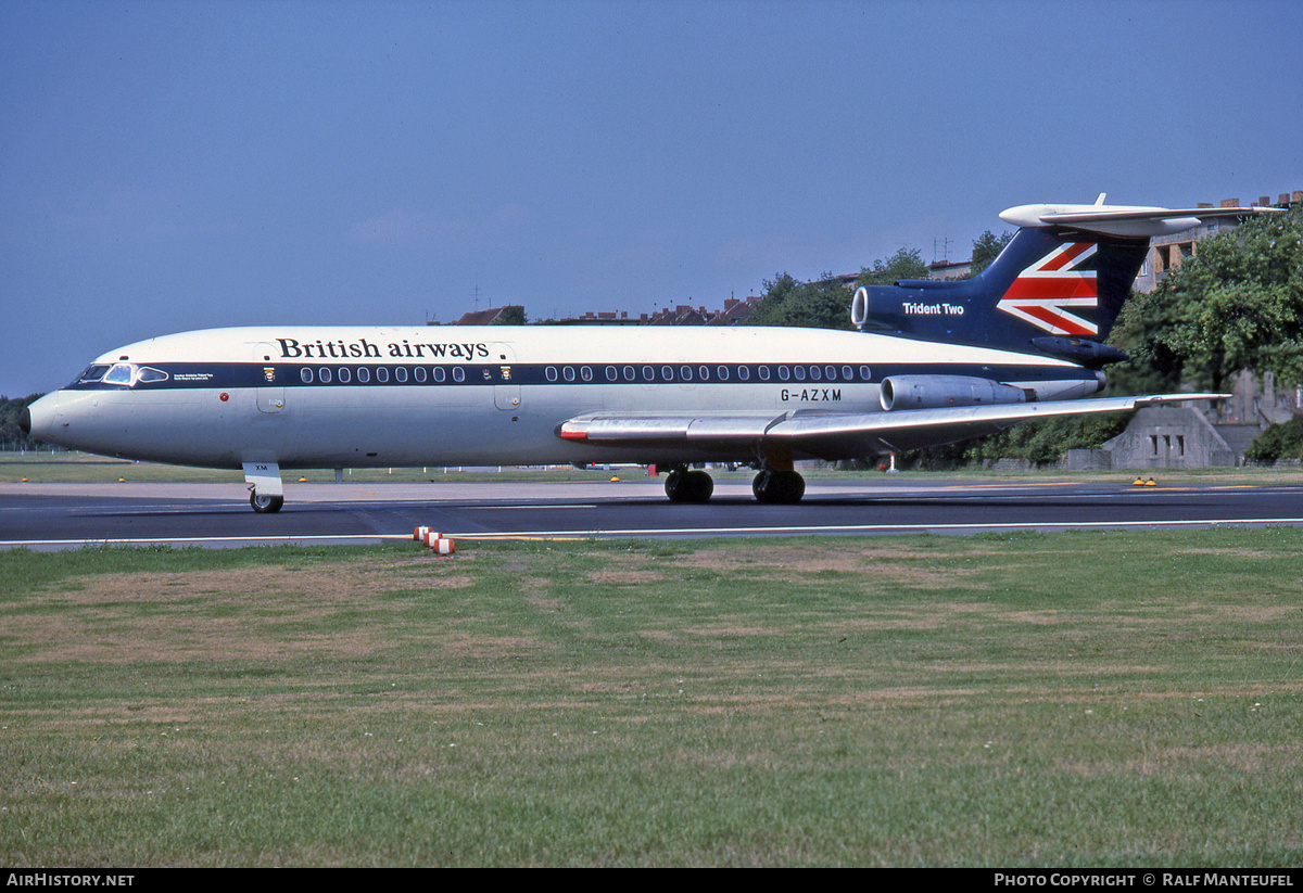
<instances>
[{"instance_id":1,"label":"long silver wing with red tip below the G-AZXM registration","mask_svg":"<svg viewBox=\"0 0 1303 893\"><path fill-rule=\"evenodd\" d=\"M881 413L797 410L780 415L605 411L568 419L558 426L556 435L594 446L671 452L678 448L736 453L766 444L792 453L839 460L955 443L1037 418L1122 413L1154 404L1226 396L1148 394Z\"/></svg>"}]
</instances>

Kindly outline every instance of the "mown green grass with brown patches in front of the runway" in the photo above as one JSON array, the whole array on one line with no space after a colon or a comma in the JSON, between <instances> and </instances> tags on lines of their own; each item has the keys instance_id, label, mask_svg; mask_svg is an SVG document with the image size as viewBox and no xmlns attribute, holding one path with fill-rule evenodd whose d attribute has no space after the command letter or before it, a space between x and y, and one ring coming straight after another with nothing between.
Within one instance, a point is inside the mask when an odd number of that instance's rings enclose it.
<instances>
[{"instance_id":1,"label":"mown green grass with brown patches in front of the runway","mask_svg":"<svg viewBox=\"0 0 1303 893\"><path fill-rule=\"evenodd\" d=\"M3 552L0 864L1296 866L1300 552Z\"/></svg>"}]
</instances>

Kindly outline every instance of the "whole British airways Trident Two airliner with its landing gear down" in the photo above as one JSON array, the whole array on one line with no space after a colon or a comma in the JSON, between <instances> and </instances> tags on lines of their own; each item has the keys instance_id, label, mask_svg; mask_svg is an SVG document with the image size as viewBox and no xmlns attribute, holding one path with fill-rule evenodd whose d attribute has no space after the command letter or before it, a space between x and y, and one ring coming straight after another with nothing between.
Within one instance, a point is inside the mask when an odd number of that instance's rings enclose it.
<instances>
[{"instance_id":1,"label":"whole British airways Trident Two airliner with its landing gear down","mask_svg":"<svg viewBox=\"0 0 1303 893\"><path fill-rule=\"evenodd\" d=\"M1273 208L1027 204L967 280L850 301L855 331L777 327L222 328L96 358L22 411L31 437L130 460L242 469L255 512L288 469L637 463L674 502L702 466L756 470L797 502L800 460L882 457L1036 418L1209 400L1095 397L1149 238ZM337 473L336 473L337 474Z\"/></svg>"}]
</instances>

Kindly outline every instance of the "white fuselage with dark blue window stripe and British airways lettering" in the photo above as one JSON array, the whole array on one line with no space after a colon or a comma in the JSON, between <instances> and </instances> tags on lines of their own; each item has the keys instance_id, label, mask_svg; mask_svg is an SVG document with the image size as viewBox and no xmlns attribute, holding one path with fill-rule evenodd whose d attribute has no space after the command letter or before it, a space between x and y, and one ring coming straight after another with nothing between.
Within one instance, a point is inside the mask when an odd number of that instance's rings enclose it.
<instances>
[{"instance_id":1,"label":"white fuselage with dark blue window stripe and British airways lettering","mask_svg":"<svg viewBox=\"0 0 1303 893\"><path fill-rule=\"evenodd\" d=\"M1053 358L825 329L228 328L99 357L31 406L31 435L233 469L752 462L747 439L588 443L560 426L602 413L881 413L886 379L938 375L999 381L1032 400L1101 387L1098 372Z\"/></svg>"}]
</instances>

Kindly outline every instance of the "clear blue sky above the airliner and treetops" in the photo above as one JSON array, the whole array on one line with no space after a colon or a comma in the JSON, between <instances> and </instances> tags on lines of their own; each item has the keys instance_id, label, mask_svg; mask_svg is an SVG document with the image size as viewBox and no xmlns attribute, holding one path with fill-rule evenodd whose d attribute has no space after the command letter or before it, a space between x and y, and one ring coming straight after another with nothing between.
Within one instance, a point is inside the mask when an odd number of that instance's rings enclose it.
<instances>
[{"instance_id":1,"label":"clear blue sky above the airliner and treetops","mask_svg":"<svg viewBox=\"0 0 1303 893\"><path fill-rule=\"evenodd\" d=\"M0 393L197 328L718 307L1028 202L1274 200L1300 35L1298 0L8 0Z\"/></svg>"}]
</instances>

